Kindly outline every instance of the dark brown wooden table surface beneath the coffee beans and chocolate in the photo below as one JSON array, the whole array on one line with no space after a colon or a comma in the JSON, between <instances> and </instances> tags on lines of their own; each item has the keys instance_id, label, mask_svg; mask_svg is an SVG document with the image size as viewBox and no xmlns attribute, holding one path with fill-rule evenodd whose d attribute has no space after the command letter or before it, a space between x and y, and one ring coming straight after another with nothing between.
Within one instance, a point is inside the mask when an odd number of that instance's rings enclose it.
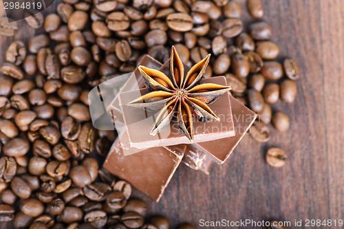
<instances>
[{"instance_id":1,"label":"dark brown wooden table surface beneath the coffee beans and chocolate","mask_svg":"<svg viewBox=\"0 0 344 229\"><path fill-rule=\"evenodd\" d=\"M249 23L245 1L239 2ZM286 133L272 130L266 144L246 136L226 164L213 166L211 175L180 166L159 203L145 198L149 215L167 217L171 228L186 221L198 228L200 219L303 219L302 228L305 219L344 220L344 1L263 2L264 20L272 25L281 60L290 56L301 68L297 100L273 106L288 114L291 128ZM0 38L0 63L10 41L32 36L33 30L22 28L12 39ZM283 168L266 164L271 146L288 153Z\"/></svg>"}]
</instances>

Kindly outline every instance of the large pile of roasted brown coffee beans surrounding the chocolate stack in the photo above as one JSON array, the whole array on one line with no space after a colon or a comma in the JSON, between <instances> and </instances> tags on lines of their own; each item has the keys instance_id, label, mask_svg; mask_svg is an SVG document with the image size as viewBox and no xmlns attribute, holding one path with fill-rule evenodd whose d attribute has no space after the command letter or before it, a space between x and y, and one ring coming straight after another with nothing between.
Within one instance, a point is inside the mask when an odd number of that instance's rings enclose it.
<instances>
[{"instance_id":1,"label":"large pile of roasted brown coffee beans surrounding the chocolate stack","mask_svg":"<svg viewBox=\"0 0 344 229\"><path fill-rule=\"evenodd\" d=\"M56 13L26 18L36 35L28 44L12 42L0 66L0 221L16 228L169 228L162 217L145 223L147 204L129 199L131 186L98 168L116 133L94 129L87 97L132 72L144 54L164 63L171 45L187 65L212 54L205 77L226 76L233 96L259 113L252 138L267 142L270 122L288 130L288 116L272 114L271 105L294 101L299 67L289 58L275 61L279 47L261 21L261 1L247 6L259 21L246 32L232 0L63 0ZM0 19L0 35L18 30ZM273 155L269 164L281 165Z\"/></svg>"}]
</instances>

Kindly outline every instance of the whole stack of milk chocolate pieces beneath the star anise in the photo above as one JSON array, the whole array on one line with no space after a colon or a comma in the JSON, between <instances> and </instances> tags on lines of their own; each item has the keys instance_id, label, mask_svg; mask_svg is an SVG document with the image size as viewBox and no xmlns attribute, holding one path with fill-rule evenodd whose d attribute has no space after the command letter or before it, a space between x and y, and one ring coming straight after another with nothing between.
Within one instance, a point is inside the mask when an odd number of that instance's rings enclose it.
<instances>
[{"instance_id":1,"label":"whole stack of milk chocolate pieces beneath the star anise","mask_svg":"<svg viewBox=\"0 0 344 229\"><path fill-rule=\"evenodd\" d=\"M151 56L144 56L138 66L160 70L171 79L170 65L170 61L162 65ZM185 72L189 72L190 68L186 65L184 67ZM147 83L139 68L129 78L126 77L127 81L118 95L109 104L105 104L107 113L114 117L119 138L111 147L103 167L156 201L159 201L181 162L206 174L213 162L226 162L257 118L253 111L225 92L209 105L219 120L201 122L193 119L192 140L183 131L179 131L177 123L173 121L169 128L160 129L158 134L151 135L154 121L159 118L157 113L129 105L136 98L147 95ZM227 85L223 76L200 80L200 85L207 84ZM108 82L109 85L111 83ZM102 87L98 88L98 92L106 103L105 97L108 94L103 95Z\"/></svg>"}]
</instances>

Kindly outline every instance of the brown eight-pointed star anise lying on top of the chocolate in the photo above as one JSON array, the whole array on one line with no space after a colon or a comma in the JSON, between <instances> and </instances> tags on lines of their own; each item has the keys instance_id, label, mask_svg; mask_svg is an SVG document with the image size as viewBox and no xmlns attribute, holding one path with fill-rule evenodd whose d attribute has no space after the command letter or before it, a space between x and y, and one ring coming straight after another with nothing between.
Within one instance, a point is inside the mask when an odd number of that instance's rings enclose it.
<instances>
[{"instance_id":1,"label":"brown eight-pointed star anise lying on top of the chocolate","mask_svg":"<svg viewBox=\"0 0 344 229\"><path fill-rule=\"evenodd\" d=\"M219 120L208 104L231 88L213 83L199 84L210 56L208 54L200 63L193 65L187 74L184 74L184 65L173 46L169 77L156 69L142 65L138 67L144 78L144 85L151 92L129 102L128 105L147 111L161 110L155 120L151 135L164 129L173 117L177 116L180 131L193 142L193 117L201 122Z\"/></svg>"}]
</instances>

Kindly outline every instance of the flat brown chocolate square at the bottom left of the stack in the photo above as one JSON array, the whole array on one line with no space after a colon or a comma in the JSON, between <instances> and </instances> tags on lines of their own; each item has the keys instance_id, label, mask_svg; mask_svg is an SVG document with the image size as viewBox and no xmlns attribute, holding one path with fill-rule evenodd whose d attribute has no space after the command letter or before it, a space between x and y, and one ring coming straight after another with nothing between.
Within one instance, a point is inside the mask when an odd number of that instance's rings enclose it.
<instances>
[{"instance_id":1,"label":"flat brown chocolate square at the bottom left of the stack","mask_svg":"<svg viewBox=\"0 0 344 229\"><path fill-rule=\"evenodd\" d=\"M128 135L123 133L111 147L103 167L159 201L182 161L186 147L154 147L125 156L123 149L128 145Z\"/></svg>"}]
</instances>

